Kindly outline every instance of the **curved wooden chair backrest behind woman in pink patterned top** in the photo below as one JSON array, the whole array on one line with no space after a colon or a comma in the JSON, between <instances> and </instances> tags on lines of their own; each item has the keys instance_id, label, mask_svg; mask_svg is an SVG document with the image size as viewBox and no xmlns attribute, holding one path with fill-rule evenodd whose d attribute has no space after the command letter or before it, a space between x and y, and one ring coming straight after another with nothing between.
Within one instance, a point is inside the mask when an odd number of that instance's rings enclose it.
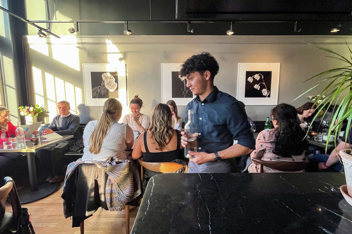
<instances>
[{"instance_id":1,"label":"curved wooden chair backrest behind woman in pink patterned top","mask_svg":"<svg viewBox=\"0 0 352 234\"><path fill-rule=\"evenodd\" d=\"M282 172L298 172L308 166L309 161L304 159L303 162L283 162L283 161L264 161L257 158L252 158L253 162L262 164L275 170Z\"/></svg>"}]
</instances>

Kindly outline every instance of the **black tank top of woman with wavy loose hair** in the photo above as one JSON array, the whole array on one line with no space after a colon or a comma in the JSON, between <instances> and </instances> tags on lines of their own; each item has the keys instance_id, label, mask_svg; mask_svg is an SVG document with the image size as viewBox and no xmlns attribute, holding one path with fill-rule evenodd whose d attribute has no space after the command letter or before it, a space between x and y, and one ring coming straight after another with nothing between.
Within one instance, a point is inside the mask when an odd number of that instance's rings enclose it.
<instances>
[{"instance_id":1,"label":"black tank top of woman with wavy loose hair","mask_svg":"<svg viewBox=\"0 0 352 234\"><path fill-rule=\"evenodd\" d=\"M176 130L177 134L177 148L172 151L166 152L149 152L147 144L147 132L144 133L144 147L145 151L143 152L143 158L146 162L171 162L175 159L183 158L183 150L180 149L181 134Z\"/></svg>"}]
</instances>

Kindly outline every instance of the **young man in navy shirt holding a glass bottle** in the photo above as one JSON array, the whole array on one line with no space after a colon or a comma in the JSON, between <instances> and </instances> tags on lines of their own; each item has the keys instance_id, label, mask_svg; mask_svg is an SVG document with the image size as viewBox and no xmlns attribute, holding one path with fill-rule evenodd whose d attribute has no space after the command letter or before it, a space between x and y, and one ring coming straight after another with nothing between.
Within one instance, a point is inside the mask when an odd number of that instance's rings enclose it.
<instances>
[{"instance_id":1,"label":"young man in navy shirt holding a glass bottle","mask_svg":"<svg viewBox=\"0 0 352 234\"><path fill-rule=\"evenodd\" d=\"M188 173L232 172L232 158L250 154L255 148L253 134L243 109L231 95L214 86L219 64L209 53L193 55L183 62L180 75L196 95L186 108L193 109L197 125L197 152L188 163ZM188 134L181 132L181 144L187 145ZM238 143L233 145L233 140Z\"/></svg>"}]
</instances>

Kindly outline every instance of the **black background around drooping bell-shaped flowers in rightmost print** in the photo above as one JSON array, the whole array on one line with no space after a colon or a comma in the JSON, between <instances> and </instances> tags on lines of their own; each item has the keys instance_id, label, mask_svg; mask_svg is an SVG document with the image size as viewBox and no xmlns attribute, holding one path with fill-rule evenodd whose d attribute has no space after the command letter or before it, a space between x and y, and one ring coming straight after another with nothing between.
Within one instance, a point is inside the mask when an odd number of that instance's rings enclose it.
<instances>
[{"instance_id":1,"label":"black background around drooping bell-shaped flowers in rightmost print","mask_svg":"<svg viewBox=\"0 0 352 234\"><path fill-rule=\"evenodd\" d=\"M248 81L249 77L252 77L256 74L262 74L264 76L264 82L266 85L266 89L270 91L268 98L270 98L271 94L271 79L272 79L272 71L246 71L246 82L245 82L245 98L266 98L266 95L263 95L263 89L265 88L265 85L263 84L263 79L262 75L259 75L260 79L256 80L253 77L253 81L250 82ZM257 88L254 88L255 85L259 85L260 88L259 90Z\"/></svg>"}]
</instances>

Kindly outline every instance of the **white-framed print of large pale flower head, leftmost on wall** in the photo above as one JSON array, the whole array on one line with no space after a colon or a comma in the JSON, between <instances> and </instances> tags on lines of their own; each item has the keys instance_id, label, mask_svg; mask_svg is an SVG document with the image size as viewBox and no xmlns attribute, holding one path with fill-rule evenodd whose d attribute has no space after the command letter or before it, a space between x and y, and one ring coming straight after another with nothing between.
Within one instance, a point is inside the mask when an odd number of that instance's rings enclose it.
<instances>
[{"instance_id":1,"label":"white-framed print of large pale flower head, leftmost on wall","mask_svg":"<svg viewBox=\"0 0 352 234\"><path fill-rule=\"evenodd\" d=\"M86 101L86 106L103 106L104 102L108 98L116 98L121 102L122 106L128 105L127 89L126 89L127 87L126 65L124 62L117 63L117 64L82 63L82 68L83 68L83 80L84 80L84 97ZM104 96L102 96L100 93L99 96L93 97L92 89L95 87L92 87L92 86L101 85L101 82L103 80L100 76L105 72L114 74L113 76L115 78L115 82L117 83L117 88L114 91L105 92Z\"/></svg>"}]
</instances>

